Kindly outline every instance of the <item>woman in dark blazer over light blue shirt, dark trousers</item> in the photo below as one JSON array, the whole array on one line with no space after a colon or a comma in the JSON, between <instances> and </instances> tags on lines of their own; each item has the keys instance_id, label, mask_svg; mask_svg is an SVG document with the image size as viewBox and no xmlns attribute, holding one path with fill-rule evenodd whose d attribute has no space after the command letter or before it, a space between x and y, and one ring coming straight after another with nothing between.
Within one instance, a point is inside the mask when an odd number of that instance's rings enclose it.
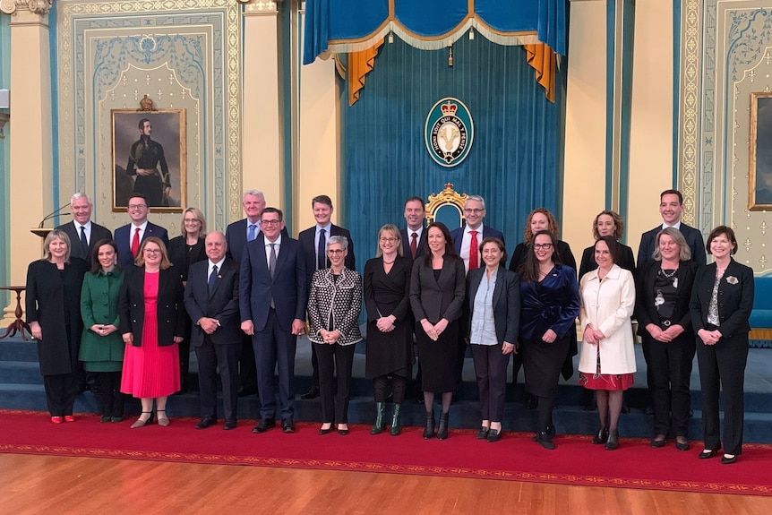
<instances>
[{"instance_id":1,"label":"woman in dark blazer over light blue shirt, dark trousers","mask_svg":"<svg viewBox=\"0 0 772 515\"><path fill-rule=\"evenodd\" d=\"M465 311L467 341L475 362L483 423L477 440L502 437L507 366L518 340L520 288L518 274L504 268L507 249L499 238L480 244L485 268L469 270Z\"/></svg>"}]
</instances>

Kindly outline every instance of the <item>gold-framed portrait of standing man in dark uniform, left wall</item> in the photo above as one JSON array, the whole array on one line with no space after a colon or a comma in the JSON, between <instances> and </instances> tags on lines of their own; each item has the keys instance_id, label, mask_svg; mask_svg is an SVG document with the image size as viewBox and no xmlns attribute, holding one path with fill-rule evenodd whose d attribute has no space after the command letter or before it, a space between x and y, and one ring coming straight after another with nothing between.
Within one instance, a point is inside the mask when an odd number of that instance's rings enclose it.
<instances>
[{"instance_id":1,"label":"gold-framed portrait of standing man in dark uniform, left wall","mask_svg":"<svg viewBox=\"0 0 772 515\"><path fill-rule=\"evenodd\" d=\"M142 193L156 212L182 212L185 205L184 109L113 109L113 211L125 211Z\"/></svg>"}]
</instances>

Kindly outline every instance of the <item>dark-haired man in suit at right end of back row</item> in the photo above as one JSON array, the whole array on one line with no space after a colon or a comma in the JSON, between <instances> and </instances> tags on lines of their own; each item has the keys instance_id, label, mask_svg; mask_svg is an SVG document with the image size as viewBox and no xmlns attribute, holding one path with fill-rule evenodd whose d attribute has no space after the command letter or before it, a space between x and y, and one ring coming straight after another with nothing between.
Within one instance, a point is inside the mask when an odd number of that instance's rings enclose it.
<instances>
[{"instance_id":1,"label":"dark-haired man in suit at right end of back row","mask_svg":"<svg viewBox=\"0 0 772 515\"><path fill-rule=\"evenodd\" d=\"M705 240L702 239L702 233L699 229L690 227L681 221L683 214L683 195L678 190L665 190L659 194L659 214L662 216L662 225L654 227L650 231L640 236L640 245L638 247L638 268L643 263L653 261L654 242L656 235L666 227L675 227L681 231L686 244L691 248L691 261L697 264L705 264L707 256L705 255Z\"/></svg>"}]
</instances>

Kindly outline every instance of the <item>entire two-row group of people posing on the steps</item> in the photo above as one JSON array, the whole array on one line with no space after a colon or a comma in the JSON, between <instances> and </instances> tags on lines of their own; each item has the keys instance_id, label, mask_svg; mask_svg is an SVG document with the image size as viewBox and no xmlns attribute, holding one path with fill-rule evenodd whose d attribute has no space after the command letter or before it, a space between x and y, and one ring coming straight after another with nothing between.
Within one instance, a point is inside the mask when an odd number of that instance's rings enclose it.
<instances>
[{"instance_id":1,"label":"entire two-row group of people posing on the steps","mask_svg":"<svg viewBox=\"0 0 772 515\"><path fill-rule=\"evenodd\" d=\"M595 391L599 415L592 442L616 449L622 391L630 388L636 370L630 323L635 316L654 408L651 445L663 447L674 435L677 449L690 448L689 382L696 351L704 430L699 458L712 458L722 449L718 397L723 387L722 462L733 463L742 453L752 270L733 260L737 242L730 227L716 227L703 245L699 231L681 221L681 193L667 190L660 201L663 225L642 236L637 267L630 247L618 241L622 219L613 211L599 213L593 222L596 243L582 254L578 281L570 246L558 239L548 210L530 213L524 241L507 269L502 233L483 225L482 197L468 197L466 227L452 232L438 222L423 227L424 203L411 197L405 204L407 227L381 228L363 280L354 270L350 234L330 224L332 203L324 195L312 202L316 227L301 233L299 242L287 236L282 212L266 208L262 193L250 191L244 194L247 219L231 224L227 235L212 232L204 240L202 213L188 208L182 236L168 242L165 229L147 221L147 202L138 195L128 206L132 223L116 229L115 241L107 231L90 245L104 227L90 222L90 202L77 193L73 224L47 236L46 257L30 264L27 281L28 321L39 341L51 420L74 420L80 361L96 378L103 422L123 419L125 393L142 399L142 415L132 427L153 421L154 400L159 425L168 425L166 400L180 390L186 372L180 364L189 351L179 346L187 341L200 364L202 420L196 427L217 421L219 370L223 428L232 429L245 334L262 405L253 431L270 430L279 415L284 432L293 433L295 342L307 316L322 397L319 432L330 433L337 423L338 433L347 434L364 298L365 373L373 379L376 402L373 434L386 428L390 391L390 433L400 433L415 339L425 438L448 437L450 399L469 345L483 418L476 437L496 442L502 436L507 367L514 355L515 375L522 365L526 389L538 399L534 440L554 449L554 399L560 374L572 373L567 364L578 350L574 327L579 318L579 383ZM83 225L79 235L78 223L86 222L90 235ZM241 235L233 239L231 229ZM240 263L227 257L237 257L229 240L242 253ZM709 265L705 250L714 257ZM77 251L90 258L90 270L73 257ZM435 393L442 397L436 433Z\"/></svg>"}]
</instances>

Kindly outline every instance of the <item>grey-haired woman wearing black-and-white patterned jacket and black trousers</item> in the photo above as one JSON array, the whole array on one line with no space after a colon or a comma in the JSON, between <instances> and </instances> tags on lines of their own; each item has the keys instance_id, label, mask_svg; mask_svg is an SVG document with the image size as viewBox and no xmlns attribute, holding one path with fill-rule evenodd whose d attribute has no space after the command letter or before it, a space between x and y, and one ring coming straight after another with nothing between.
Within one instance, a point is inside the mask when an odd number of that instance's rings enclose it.
<instances>
[{"instance_id":1,"label":"grey-haired woman wearing black-and-white patterned jacket and black trousers","mask_svg":"<svg viewBox=\"0 0 772 515\"><path fill-rule=\"evenodd\" d=\"M308 296L308 339L316 348L319 363L319 394L322 398L320 434L348 434L348 401L351 399L351 368L354 365L362 311L362 278L346 268L348 238L330 236L327 259L330 268L316 270Z\"/></svg>"}]
</instances>

